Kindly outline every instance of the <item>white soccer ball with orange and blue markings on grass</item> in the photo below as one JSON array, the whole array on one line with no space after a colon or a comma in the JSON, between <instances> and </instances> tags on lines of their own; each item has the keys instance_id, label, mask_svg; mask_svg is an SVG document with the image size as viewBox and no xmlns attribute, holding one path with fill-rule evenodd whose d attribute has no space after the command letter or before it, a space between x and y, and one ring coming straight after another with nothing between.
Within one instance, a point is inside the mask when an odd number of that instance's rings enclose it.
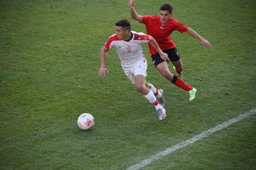
<instances>
[{"instance_id":1,"label":"white soccer ball with orange and blue markings on grass","mask_svg":"<svg viewBox=\"0 0 256 170\"><path fill-rule=\"evenodd\" d=\"M77 125L82 130L89 130L94 126L94 117L89 113L83 113L77 120Z\"/></svg>"}]
</instances>

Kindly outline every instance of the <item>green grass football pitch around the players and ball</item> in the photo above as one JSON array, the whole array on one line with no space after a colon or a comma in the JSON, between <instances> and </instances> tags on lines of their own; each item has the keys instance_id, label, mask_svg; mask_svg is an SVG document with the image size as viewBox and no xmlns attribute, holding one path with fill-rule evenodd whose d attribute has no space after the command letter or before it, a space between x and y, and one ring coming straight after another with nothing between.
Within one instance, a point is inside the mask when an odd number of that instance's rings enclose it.
<instances>
[{"instance_id":1,"label":"green grass football pitch around the players and ball","mask_svg":"<svg viewBox=\"0 0 256 170\"><path fill-rule=\"evenodd\" d=\"M98 76L100 50L127 18L128 1L0 0L0 169L126 169L256 107L254 1L167 1L173 18L214 46L203 49L174 32L186 91L154 68L147 45L147 81L165 91L167 119L126 78L115 49L108 75ZM158 14L163 1L136 1ZM171 66L171 65L170 65ZM82 113L95 126L82 131ZM142 169L256 169L256 115L183 147Z\"/></svg>"}]
</instances>

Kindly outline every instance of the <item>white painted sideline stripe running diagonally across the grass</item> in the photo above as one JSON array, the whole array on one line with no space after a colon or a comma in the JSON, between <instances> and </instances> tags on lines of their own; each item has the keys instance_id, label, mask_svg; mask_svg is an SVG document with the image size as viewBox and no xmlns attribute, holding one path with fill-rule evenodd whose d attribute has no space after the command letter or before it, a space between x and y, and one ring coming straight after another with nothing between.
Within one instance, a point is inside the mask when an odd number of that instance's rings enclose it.
<instances>
[{"instance_id":1,"label":"white painted sideline stripe running diagonally across the grass","mask_svg":"<svg viewBox=\"0 0 256 170\"><path fill-rule=\"evenodd\" d=\"M176 144L176 145L174 145L172 147L167 148L165 151L162 151L162 152L159 152L157 154L154 154L150 158L145 159L145 160L139 162L136 165L130 166L128 169L129 170L131 170L131 169L134 170L134 169L142 168L142 167L146 166L147 164L150 164L154 160L157 160L157 159L159 159L159 158L161 158L163 156L166 156L167 154L172 153L172 152L176 151L177 149L180 149L181 147L184 147L184 146L187 146L187 145L189 145L191 143L194 143L194 142L196 142L197 140L199 140L199 139L201 139L203 137L209 136L212 133L214 133L214 132L216 132L218 130L221 130L223 128L226 128L229 125L231 125L233 123L236 123L236 122L244 119L245 117L247 117L249 115L252 115L252 114L255 114L255 113L256 113L256 108L253 108L252 110L250 110L248 112L245 112L244 114L241 114L241 115L239 115L237 117L234 117L233 119L230 119L230 120L228 120L228 121L226 121L226 122L224 122L222 124L219 124L219 125L217 125L214 128L211 128L209 130L203 131L201 134L196 135L196 136L188 139L187 141L183 141L183 142L181 142L179 144Z\"/></svg>"}]
</instances>

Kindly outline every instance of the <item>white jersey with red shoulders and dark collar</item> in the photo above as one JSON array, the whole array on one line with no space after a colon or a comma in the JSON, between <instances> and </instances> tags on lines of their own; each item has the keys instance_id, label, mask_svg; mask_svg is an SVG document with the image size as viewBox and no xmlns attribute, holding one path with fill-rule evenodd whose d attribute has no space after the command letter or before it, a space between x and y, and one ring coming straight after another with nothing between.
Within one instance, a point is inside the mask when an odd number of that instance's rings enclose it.
<instances>
[{"instance_id":1,"label":"white jersey with red shoulders and dark collar","mask_svg":"<svg viewBox=\"0 0 256 170\"><path fill-rule=\"evenodd\" d=\"M131 33L132 38L129 41L119 40L117 35L113 34L105 43L107 49L116 47L124 71L132 68L134 64L140 61L145 62L141 45L150 41L150 37L144 33L134 31L131 31Z\"/></svg>"}]
</instances>

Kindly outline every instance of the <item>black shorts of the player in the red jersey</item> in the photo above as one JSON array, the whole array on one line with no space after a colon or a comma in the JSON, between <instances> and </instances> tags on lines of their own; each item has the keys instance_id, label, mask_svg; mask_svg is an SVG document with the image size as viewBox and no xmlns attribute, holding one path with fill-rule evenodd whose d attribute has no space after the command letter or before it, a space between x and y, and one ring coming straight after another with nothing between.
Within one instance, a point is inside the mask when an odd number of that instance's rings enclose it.
<instances>
[{"instance_id":1,"label":"black shorts of the player in the red jersey","mask_svg":"<svg viewBox=\"0 0 256 170\"><path fill-rule=\"evenodd\" d=\"M170 58L170 61L180 60L180 54L178 53L176 48L163 50L163 53L168 54L168 57ZM162 58L160 57L159 53L152 54L151 58L152 58L153 63L155 64L155 67L157 67L158 64L164 62L164 60L162 60Z\"/></svg>"}]
</instances>

